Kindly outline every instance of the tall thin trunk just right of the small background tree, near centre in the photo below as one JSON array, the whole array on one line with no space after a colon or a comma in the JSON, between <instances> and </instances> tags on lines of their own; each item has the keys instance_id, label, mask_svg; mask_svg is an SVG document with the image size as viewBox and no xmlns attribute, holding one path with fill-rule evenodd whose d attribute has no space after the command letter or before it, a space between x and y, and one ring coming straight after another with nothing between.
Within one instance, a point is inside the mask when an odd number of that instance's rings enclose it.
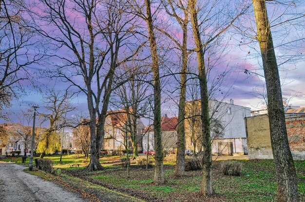
<instances>
[{"instance_id":1,"label":"tall thin trunk just right of the small background tree, near centre","mask_svg":"<svg viewBox=\"0 0 305 202\"><path fill-rule=\"evenodd\" d=\"M148 27L149 41L152 53L153 93L154 93L154 119L153 119L153 143L155 151L154 184L164 184L163 153L161 136L161 86L159 77L159 64L157 45L153 33L151 1L145 0L146 22Z\"/></svg>"}]
</instances>

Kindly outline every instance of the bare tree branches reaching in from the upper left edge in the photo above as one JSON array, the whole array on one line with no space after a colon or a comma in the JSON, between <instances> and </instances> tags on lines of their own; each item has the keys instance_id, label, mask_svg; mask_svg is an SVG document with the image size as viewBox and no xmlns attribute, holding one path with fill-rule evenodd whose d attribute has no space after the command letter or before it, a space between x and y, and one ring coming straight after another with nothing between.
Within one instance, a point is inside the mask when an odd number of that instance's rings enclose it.
<instances>
[{"instance_id":1,"label":"bare tree branches reaching in from the upper left edge","mask_svg":"<svg viewBox=\"0 0 305 202\"><path fill-rule=\"evenodd\" d=\"M31 77L27 67L43 57L33 30L25 27L23 6L22 0L0 0L0 110L19 97L19 82Z\"/></svg>"}]
</instances>

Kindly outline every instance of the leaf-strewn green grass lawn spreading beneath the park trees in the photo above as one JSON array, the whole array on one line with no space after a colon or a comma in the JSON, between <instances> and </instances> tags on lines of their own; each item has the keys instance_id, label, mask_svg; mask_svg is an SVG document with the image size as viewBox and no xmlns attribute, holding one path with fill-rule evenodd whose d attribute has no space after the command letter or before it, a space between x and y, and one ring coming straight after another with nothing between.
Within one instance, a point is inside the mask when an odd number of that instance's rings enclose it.
<instances>
[{"instance_id":1,"label":"leaf-strewn green grass lawn spreading beneath the park trees","mask_svg":"<svg viewBox=\"0 0 305 202\"><path fill-rule=\"evenodd\" d=\"M276 177L273 160L235 160L242 164L241 176L224 176L220 170L221 161L213 162L213 188L214 197L202 197L198 194L202 171L187 171L186 176L175 178L173 176L173 161L166 159L164 163L166 183L153 185L154 169L138 168L132 161L130 176L127 177L126 168L119 166L119 156L105 156L100 159L104 170L85 172L87 162L82 155L63 155L59 162L59 155L46 156L54 161L55 168L62 169L62 175L74 179L74 184L90 182L93 185L106 187L135 196L146 201L166 202L270 202L276 199ZM143 158L144 156L141 156ZM152 158L152 157L151 157ZM4 159L5 161L21 162L20 158ZM153 160L153 159L152 159ZM80 167L71 167L80 164ZM305 202L305 161L295 162L299 194L301 201ZM79 184L79 185L80 185ZM77 185L76 185L77 186Z\"/></svg>"}]
</instances>

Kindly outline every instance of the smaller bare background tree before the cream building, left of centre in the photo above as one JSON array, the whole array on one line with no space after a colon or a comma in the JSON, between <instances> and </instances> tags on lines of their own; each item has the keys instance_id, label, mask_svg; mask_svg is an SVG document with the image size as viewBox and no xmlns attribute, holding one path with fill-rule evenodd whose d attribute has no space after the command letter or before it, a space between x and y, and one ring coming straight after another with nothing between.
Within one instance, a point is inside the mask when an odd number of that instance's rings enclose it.
<instances>
[{"instance_id":1,"label":"smaller bare background tree before the cream building, left of centre","mask_svg":"<svg viewBox=\"0 0 305 202\"><path fill-rule=\"evenodd\" d=\"M122 66L121 71L122 73L118 77L127 82L115 91L114 97L119 99L115 99L113 105L125 109L127 113L125 124L128 126L127 130L133 145L133 159L135 159L138 156L138 145L142 145L141 130L143 127L138 127L141 122L139 120L146 116L148 110L147 100L150 95L147 94L149 85L146 83L145 77L149 71L136 61Z\"/></svg>"}]
</instances>

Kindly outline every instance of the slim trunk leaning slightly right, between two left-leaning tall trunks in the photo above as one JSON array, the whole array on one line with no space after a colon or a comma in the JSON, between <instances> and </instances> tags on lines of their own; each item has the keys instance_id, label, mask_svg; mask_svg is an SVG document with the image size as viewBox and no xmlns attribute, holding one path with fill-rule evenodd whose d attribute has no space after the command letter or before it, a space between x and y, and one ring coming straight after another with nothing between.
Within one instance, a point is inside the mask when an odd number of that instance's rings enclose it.
<instances>
[{"instance_id":1,"label":"slim trunk leaning slightly right, between two left-leaning tall trunks","mask_svg":"<svg viewBox=\"0 0 305 202\"><path fill-rule=\"evenodd\" d=\"M185 169L185 130L184 130L184 119L185 119L185 97L187 90L187 67L188 67L188 21L189 12L185 12L183 39L182 39L182 68L180 75L180 98L178 105L178 131L177 131L177 155L176 155L176 166L175 176L184 176Z\"/></svg>"}]
</instances>

